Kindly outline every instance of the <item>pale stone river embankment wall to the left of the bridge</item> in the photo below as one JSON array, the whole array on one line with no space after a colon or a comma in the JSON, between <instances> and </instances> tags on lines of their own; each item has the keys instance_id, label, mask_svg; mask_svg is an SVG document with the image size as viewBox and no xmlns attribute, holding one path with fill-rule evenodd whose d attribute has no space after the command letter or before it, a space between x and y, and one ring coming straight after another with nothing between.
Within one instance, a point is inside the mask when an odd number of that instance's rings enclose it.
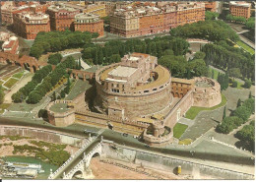
<instances>
[{"instance_id":1,"label":"pale stone river embankment wall to the left of the bridge","mask_svg":"<svg viewBox=\"0 0 256 182\"><path fill-rule=\"evenodd\" d=\"M0 136L22 136L31 137L49 143L66 144L76 148L81 148L84 138L74 137L69 134L46 129L36 129L23 126L0 126Z\"/></svg>"}]
</instances>

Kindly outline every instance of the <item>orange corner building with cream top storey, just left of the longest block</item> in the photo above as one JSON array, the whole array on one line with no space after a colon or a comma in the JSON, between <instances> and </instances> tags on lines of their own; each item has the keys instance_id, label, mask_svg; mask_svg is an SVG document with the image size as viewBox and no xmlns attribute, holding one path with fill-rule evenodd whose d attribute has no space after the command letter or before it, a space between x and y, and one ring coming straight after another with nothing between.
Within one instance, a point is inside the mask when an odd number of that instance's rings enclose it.
<instances>
[{"instance_id":1,"label":"orange corner building with cream top storey, just left of the longest block","mask_svg":"<svg viewBox=\"0 0 256 182\"><path fill-rule=\"evenodd\" d=\"M104 34L103 21L98 15L93 14L78 14L74 21L75 30L97 32L99 36Z\"/></svg>"}]
</instances>

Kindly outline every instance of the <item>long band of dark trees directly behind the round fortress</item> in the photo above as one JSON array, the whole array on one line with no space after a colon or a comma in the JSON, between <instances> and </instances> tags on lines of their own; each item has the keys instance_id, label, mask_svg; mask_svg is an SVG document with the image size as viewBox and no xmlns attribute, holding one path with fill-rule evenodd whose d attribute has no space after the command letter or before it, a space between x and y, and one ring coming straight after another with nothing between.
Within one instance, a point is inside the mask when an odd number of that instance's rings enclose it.
<instances>
[{"instance_id":1,"label":"long band of dark trees directly behind the round fortress","mask_svg":"<svg viewBox=\"0 0 256 182\"><path fill-rule=\"evenodd\" d=\"M82 51L82 57L91 64L110 64L119 62L121 57L127 53L141 52L160 58L166 49L171 50L177 56L186 54L188 47L189 43L185 39L172 36L145 40L133 38L125 42L110 40L103 47L96 44L86 45Z\"/></svg>"}]
</instances>

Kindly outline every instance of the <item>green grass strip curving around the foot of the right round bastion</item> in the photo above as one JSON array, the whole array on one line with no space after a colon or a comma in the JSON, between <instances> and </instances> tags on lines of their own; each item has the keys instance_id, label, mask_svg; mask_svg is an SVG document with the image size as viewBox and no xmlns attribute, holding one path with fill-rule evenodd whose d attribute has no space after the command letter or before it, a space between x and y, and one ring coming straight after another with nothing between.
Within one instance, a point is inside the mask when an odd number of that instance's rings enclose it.
<instances>
[{"instance_id":1,"label":"green grass strip curving around the foot of the right round bastion","mask_svg":"<svg viewBox=\"0 0 256 182\"><path fill-rule=\"evenodd\" d=\"M224 94L222 93L222 102L216 106L213 107L196 107L196 106L192 106L190 107L190 109L186 112L186 118L188 119L195 119L196 116L198 115L199 112L201 112L202 110L215 110L219 107L224 106L224 104L226 103L226 98L224 96Z\"/></svg>"}]
</instances>

